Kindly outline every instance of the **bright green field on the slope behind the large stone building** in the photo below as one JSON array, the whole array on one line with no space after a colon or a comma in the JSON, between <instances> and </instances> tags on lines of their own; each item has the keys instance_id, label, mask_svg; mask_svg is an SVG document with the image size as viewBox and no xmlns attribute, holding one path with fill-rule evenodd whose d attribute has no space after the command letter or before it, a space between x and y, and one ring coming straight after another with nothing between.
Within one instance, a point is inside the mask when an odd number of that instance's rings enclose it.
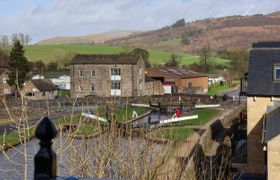
<instances>
[{"instance_id":1,"label":"bright green field on the slope behind the large stone building","mask_svg":"<svg viewBox=\"0 0 280 180\"><path fill-rule=\"evenodd\" d=\"M65 53L74 52L80 54L118 54L129 51L129 49L117 46L97 46L87 44L60 44L60 45L30 45L26 47L26 56L29 61L42 60L45 63L54 60L55 51L62 50ZM149 50L150 62L152 64L163 64L172 54L168 51ZM181 64L188 65L199 62L199 56L178 53L182 57ZM214 58L217 64L229 65L229 60Z\"/></svg>"}]
</instances>

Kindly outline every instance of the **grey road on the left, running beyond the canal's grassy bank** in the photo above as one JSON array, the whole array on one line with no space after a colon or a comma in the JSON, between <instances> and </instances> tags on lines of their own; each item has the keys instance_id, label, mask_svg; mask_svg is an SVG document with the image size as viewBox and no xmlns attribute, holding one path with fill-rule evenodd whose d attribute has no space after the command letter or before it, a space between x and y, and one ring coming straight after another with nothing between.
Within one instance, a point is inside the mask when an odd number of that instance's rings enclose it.
<instances>
[{"instance_id":1,"label":"grey road on the left, running beyond the canal's grassy bank","mask_svg":"<svg viewBox=\"0 0 280 180\"><path fill-rule=\"evenodd\" d=\"M88 112L88 110L91 109L95 109L96 106L83 106L83 107L67 107L65 110L61 111L61 112L57 112L55 114L50 114L48 117L51 120L56 120L59 118L63 118L65 116L69 116L69 115L76 115L76 114L81 114L82 112ZM41 120L41 117L32 117L30 119L28 119L28 123L29 126L32 126L34 124L36 124L39 120ZM6 125L2 125L0 126L0 135L2 135L4 132L9 133L16 130L16 127L14 124L6 124Z\"/></svg>"}]
</instances>

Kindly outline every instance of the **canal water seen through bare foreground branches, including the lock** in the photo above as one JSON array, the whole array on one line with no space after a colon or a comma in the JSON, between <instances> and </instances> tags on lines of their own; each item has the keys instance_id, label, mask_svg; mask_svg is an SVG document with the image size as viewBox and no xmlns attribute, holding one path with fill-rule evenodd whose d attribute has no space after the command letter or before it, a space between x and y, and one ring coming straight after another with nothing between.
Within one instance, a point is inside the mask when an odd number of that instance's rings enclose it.
<instances>
[{"instance_id":1,"label":"canal water seen through bare foreground branches, including the lock","mask_svg":"<svg viewBox=\"0 0 280 180\"><path fill-rule=\"evenodd\" d=\"M166 119L166 116L151 114L150 122ZM145 126L148 116L134 122L135 126ZM33 158L39 149L37 139L30 140L26 149L28 179L33 179ZM167 145L147 142L144 138L133 139L109 137L108 134L93 139L71 139L67 133L54 140L53 149L57 153L59 176L129 178L139 175L144 167L149 168L159 154L167 150ZM24 179L24 145L0 155L0 179ZM146 154L143 157L143 154ZM104 161L104 162L102 162ZM143 169L143 168L142 168ZM101 173L100 173L101 172Z\"/></svg>"}]
</instances>

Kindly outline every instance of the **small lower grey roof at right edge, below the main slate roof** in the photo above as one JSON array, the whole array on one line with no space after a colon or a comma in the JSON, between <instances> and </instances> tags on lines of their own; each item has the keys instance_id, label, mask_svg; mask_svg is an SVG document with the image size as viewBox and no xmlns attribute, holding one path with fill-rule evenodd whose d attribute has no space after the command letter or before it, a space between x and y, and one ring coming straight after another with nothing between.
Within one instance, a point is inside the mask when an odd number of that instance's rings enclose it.
<instances>
[{"instance_id":1,"label":"small lower grey roof at right edge, below the main slate roof","mask_svg":"<svg viewBox=\"0 0 280 180\"><path fill-rule=\"evenodd\" d=\"M272 110L265 116L265 135L264 141L268 142L272 138L280 134L280 107Z\"/></svg>"}]
</instances>

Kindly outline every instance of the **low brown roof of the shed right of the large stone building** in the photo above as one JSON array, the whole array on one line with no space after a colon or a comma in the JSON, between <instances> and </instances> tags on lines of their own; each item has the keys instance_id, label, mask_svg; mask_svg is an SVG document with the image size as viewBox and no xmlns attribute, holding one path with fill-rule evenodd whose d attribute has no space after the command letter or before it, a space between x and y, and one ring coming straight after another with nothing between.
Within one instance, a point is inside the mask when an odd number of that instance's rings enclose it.
<instances>
[{"instance_id":1,"label":"low brown roof of the shed right of the large stone building","mask_svg":"<svg viewBox=\"0 0 280 180\"><path fill-rule=\"evenodd\" d=\"M147 70L147 76L149 77L164 77L174 79L207 77L205 74L201 74L192 70L183 68L150 68Z\"/></svg>"}]
</instances>

